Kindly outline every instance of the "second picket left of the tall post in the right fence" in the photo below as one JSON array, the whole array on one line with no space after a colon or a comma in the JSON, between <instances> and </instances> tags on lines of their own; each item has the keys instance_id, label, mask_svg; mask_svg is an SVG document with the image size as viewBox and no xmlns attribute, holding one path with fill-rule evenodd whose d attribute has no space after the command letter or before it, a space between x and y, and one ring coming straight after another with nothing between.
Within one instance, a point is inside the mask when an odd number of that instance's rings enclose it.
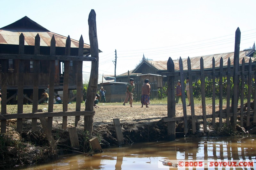
<instances>
[{"instance_id":1,"label":"second picket left of the tall post in the right fence","mask_svg":"<svg viewBox=\"0 0 256 170\"><path fill-rule=\"evenodd\" d=\"M223 113L223 58L220 58L220 79L219 79L219 87L220 87L220 93L219 93L219 110L220 110L220 117L219 117L219 127L222 127L222 113Z\"/></svg>"}]
</instances>

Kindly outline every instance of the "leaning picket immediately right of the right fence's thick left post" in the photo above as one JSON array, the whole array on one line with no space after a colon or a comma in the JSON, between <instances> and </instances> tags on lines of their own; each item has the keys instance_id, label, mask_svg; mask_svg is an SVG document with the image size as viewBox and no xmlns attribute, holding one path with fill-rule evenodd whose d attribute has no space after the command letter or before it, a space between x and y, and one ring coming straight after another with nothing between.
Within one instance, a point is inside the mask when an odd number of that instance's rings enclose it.
<instances>
[{"instance_id":1,"label":"leaning picket immediately right of the right fence's thick left post","mask_svg":"<svg viewBox=\"0 0 256 170\"><path fill-rule=\"evenodd\" d=\"M184 85L185 80L184 80L183 63L182 63L181 57L179 60L179 66L180 66L182 108L183 108L183 116L184 116L184 133L188 133L187 107L186 107L185 85Z\"/></svg>"}]
</instances>

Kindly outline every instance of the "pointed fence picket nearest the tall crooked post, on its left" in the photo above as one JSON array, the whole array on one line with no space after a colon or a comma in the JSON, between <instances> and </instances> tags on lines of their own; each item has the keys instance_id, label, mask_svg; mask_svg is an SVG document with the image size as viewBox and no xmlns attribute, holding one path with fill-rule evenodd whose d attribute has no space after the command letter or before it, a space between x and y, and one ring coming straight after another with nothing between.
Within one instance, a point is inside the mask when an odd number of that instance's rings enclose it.
<instances>
[{"instance_id":1,"label":"pointed fence picket nearest the tall crooked post, on its left","mask_svg":"<svg viewBox=\"0 0 256 170\"><path fill-rule=\"evenodd\" d=\"M81 35L79 39L79 48L78 55L83 56L84 50L84 40ZM77 79L76 79L76 111L81 110L81 102L82 102L82 88L83 88L83 62L78 61L77 63ZM77 126L78 121L80 120L80 116L76 116L75 118L75 126Z\"/></svg>"}]
</instances>

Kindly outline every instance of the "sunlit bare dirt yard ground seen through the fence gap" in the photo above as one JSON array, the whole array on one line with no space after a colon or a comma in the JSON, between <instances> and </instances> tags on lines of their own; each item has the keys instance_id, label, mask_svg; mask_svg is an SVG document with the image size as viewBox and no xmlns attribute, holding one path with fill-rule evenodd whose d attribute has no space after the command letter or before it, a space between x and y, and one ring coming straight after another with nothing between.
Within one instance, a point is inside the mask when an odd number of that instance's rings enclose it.
<instances>
[{"instance_id":1,"label":"sunlit bare dirt yard ground seen through the fence gap","mask_svg":"<svg viewBox=\"0 0 256 170\"><path fill-rule=\"evenodd\" d=\"M143 119L162 119L167 116L167 105L149 105L148 108L145 106L141 108L141 105L134 105L133 107L130 107L130 105L106 106L99 104L99 106L99 108L94 108L94 125L113 123L113 119L115 118L120 119L120 122L125 122L131 120L139 121ZM195 105L194 108L195 115L202 115L201 105ZM186 107L186 109L187 115L191 115L190 107ZM218 108L216 107L216 110L217 109ZM212 106L206 106L206 114L212 114ZM176 104L175 116L183 116L182 104ZM79 123L83 123L83 120L80 120Z\"/></svg>"}]
</instances>

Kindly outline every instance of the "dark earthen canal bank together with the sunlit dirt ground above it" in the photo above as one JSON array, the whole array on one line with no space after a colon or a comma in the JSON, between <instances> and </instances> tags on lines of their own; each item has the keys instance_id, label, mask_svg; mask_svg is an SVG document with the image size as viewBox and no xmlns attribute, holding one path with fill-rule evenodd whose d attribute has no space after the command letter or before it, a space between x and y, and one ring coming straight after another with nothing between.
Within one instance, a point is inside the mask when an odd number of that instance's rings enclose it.
<instances>
[{"instance_id":1,"label":"dark earthen canal bank together with the sunlit dirt ground above it","mask_svg":"<svg viewBox=\"0 0 256 170\"><path fill-rule=\"evenodd\" d=\"M70 105L71 106L71 105ZM211 111L212 107L208 106L207 111ZM189 109L188 114L189 114ZM195 106L196 115L201 114L202 108ZM102 148L111 148L117 146L116 134L113 119L120 119L122 127L122 133L124 137L124 145L141 143L141 142L157 142L167 140L167 122L162 120L167 116L167 105L150 105L149 108L140 108L140 106L128 107L128 106L104 106L100 105L100 108L95 108L94 125L92 131L92 137L98 137ZM177 105L176 116L182 116L182 107ZM68 119L68 127L74 127L73 117ZM22 142L22 149L8 146L6 155L12 157L12 160L5 160L5 165L28 165L37 164L40 162L47 162L52 159L57 159L59 154L68 154L72 152L70 139L67 129L61 129L62 117L57 117L53 120L52 135L58 142L58 152L53 154L49 147L48 140L44 134L40 121L37 122L38 128L36 132L31 132L31 120L23 120L22 133L16 133L11 130L12 123L15 124L15 120L9 122L11 138L11 131L14 132L12 137L20 139ZM188 133L183 133L183 123L176 122L176 137L219 137L219 136L249 136L246 131L237 126L237 131L232 132L228 127L211 128L211 119L208 119L206 133L203 132L201 120L196 121L196 133L191 132L191 123L188 122ZM85 155L93 154L90 152L91 148L87 144L89 139L88 134L84 132L84 120L81 116L78 126L76 127L80 150L79 152L85 152ZM216 124L218 127L218 123ZM18 141L18 140L17 140ZM5 156L5 155L4 155ZM6 158L6 157L4 157Z\"/></svg>"}]
</instances>

